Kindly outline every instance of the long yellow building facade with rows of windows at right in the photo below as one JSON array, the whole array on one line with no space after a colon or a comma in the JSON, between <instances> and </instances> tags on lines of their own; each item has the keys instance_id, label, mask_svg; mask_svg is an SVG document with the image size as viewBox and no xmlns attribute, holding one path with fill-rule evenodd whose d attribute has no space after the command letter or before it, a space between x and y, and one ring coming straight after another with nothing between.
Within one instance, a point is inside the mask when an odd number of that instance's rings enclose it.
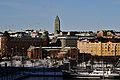
<instances>
[{"instance_id":1,"label":"long yellow building facade with rows of windows at right","mask_svg":"<svg viewBox=\"0 0 120 80\"><path fill-rule=\"evenodd\" d=\"M93 56L120 56L120 42L78 40L77 48L80 53L90 53Z\"/></svg>"}]
</instances>

